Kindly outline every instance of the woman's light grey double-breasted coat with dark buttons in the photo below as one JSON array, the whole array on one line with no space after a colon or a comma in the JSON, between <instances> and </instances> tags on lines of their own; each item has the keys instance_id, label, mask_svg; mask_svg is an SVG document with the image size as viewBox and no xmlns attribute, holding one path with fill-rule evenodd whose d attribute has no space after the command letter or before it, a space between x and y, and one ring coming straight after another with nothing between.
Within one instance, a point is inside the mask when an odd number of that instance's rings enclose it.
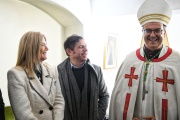
<instances>
[{"instance_id":1,"label":"woman's light grey double-breasted coat with dark buttons","mask_svg":"<svg viewBox=\"0 0 180 120\"><path fill-rule=\"evenodd\" d=\"M7 77L16 120L63 120L65 103L55 66L42 64L43 85L19 67L10 69Z\"/></svg>"}]
</instances>

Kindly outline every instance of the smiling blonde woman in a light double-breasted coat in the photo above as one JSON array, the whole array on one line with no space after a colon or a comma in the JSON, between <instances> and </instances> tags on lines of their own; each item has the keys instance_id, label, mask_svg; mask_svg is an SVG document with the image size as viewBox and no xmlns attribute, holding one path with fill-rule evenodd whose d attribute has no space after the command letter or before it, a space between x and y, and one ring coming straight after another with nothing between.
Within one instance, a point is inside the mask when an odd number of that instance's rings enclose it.
<instances>
[{"instance_id":1,"label":"smiling blonde woman in a light double-breasted coat","mask_svg":"<svg viewBox=\"0 0 180 120\"><path fill-rule=\"evenodd\" d=\"M25 33L16 66L7 73L8 95L16 120L63 120L64 98L55 66L45 62L47 41L40 32Z\"/></svg>"}]
</instances>

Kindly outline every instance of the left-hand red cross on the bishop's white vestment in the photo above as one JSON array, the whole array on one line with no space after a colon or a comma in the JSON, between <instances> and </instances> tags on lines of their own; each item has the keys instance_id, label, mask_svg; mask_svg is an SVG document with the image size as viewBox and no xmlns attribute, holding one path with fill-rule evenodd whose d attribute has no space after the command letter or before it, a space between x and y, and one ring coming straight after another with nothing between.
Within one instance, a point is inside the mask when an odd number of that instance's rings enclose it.
<instances>
[{"instance_id":1,"label":"left-hand red cross on the bishop's white vestment","mask_svg":"<svg viewBox=\"0 0 180 120\"><path fill-rule=\"evenodd\" d=\"M138 79L138 75L134 75L135 67L131 67L130 74L125 74L125 78L129 78L128 86L132 87L132 80Z\"/></svg>"}]
</instances>

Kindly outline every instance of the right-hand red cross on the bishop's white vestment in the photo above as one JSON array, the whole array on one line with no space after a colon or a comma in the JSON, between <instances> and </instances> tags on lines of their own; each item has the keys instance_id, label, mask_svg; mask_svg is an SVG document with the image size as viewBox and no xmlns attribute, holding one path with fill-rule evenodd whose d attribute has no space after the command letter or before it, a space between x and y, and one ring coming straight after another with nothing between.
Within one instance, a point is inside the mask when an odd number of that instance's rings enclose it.
<instances>
[{"instance_id":1,"label":"right-hand red cross on the bishop's white vestment","mask_svg":"<svg viewBox=\"0 0 180 120\"><path fill-rule=\"evenodd\" d=\"M163 74L163 78L156 78L156 82L162 82L163 86L162 86L162 91L164 92L168 92L168 87L167 84L172 84L174 85L174 80L173 79L168 79L168 70L163 70L162 71Z\"/></svg>"}]
</instances>

